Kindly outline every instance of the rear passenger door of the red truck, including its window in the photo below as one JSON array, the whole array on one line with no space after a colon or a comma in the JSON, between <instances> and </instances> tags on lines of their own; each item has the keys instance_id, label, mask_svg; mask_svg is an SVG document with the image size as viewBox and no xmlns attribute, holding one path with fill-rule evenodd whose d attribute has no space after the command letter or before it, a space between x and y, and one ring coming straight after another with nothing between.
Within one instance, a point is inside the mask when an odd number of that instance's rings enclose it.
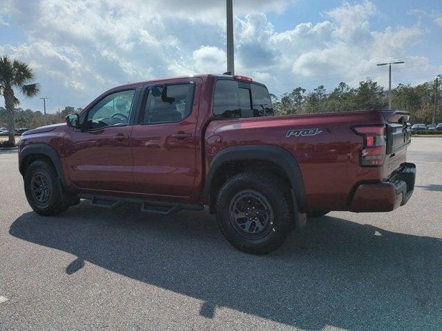
<instances>
[{"instance_id":1,"label":"rear passenger door of the red truck, including its window","mask_svg":"<svg viewBox=\"0 0 442 331\"><path fill-rule=\"evenodd\" d=\"M202 79L144 87L132 132L134 190L156 197L190 197L195 181L196 123Z\"/></svg>"}]
</instances>

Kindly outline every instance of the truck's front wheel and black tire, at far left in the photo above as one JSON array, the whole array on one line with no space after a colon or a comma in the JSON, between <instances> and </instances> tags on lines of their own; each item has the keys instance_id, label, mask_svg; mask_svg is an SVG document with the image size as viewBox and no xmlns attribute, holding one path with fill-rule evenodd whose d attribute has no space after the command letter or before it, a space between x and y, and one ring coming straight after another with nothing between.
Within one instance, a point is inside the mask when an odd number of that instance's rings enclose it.
<instances>
[{"instance_id":1,"label":"truck's front wheel and black tire, at far left","mask_svg":"<svg viewBox=\"0 0 442 331\"><path fill-rule=\"evenodd\" d=\"M69 208L63 203L62 188L52 165L32 162L24 175L26 199L32 210L43 216L54 216Z\"/></svg>"}]
</instances>

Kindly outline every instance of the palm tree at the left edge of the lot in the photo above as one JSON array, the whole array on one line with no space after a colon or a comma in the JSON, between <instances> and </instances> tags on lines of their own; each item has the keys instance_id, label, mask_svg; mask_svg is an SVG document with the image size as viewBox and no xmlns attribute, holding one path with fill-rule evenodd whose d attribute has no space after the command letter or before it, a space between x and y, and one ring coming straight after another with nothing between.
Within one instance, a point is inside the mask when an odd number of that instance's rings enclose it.
<instances>
[{"instance_id":1,"label":"palm tree at the left edge of the lot","mask_svg":"<svg viewBox=\"0 0 442 331\"><path fill-rule=\"evenodd\" d=\"M34 97L39 92L39 84L30 83L33 79L32 68L26 63L12 61L8 56L0 58L0 95L5 98L10 143L15 143L14 107L20 103L12 88L18 88L25 97Z\"/></svg>"}]
</instances>

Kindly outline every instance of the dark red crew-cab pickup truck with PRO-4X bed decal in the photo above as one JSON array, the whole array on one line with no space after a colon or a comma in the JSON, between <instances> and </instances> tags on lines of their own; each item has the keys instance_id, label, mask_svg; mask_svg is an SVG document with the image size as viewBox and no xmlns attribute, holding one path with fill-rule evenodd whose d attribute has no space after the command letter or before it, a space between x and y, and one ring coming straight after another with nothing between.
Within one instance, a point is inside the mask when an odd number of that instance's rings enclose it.
<instances>
[{"instance_id":1,"label":"dark red crew-cab pickup truck with PRO-4X bed decal","mask_svg":"<svg viewBox=\"0 0 442 331\"><path fill-rule=\"evenodd\" d=\"M405 204L416 175L408 119L394 110L280 117L249 77L157 79L108 90L66 124L23 133L19 171L38 214L79 199L138 202L157 214L207 205L230 243L265 254L306 215Z\"/></svg>"}]
</instances>

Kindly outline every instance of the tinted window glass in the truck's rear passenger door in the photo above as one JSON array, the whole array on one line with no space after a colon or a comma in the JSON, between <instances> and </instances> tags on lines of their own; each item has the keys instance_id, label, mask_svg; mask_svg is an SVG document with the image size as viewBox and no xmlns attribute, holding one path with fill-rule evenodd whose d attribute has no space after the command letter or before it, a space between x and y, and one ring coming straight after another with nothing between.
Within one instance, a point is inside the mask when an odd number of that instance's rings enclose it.
<instances>
[{"instance_id":1,"label":"tinted window glass in the truck's rear passenger door","mask_svg":"<svg viewBox=\"0 0 442 331\"><path fill-rule=\"evenodd\" d=\"M174 123L191 114L194 83L155 85L148 91L143 124Z\"/></svg>"}]
</instances>

